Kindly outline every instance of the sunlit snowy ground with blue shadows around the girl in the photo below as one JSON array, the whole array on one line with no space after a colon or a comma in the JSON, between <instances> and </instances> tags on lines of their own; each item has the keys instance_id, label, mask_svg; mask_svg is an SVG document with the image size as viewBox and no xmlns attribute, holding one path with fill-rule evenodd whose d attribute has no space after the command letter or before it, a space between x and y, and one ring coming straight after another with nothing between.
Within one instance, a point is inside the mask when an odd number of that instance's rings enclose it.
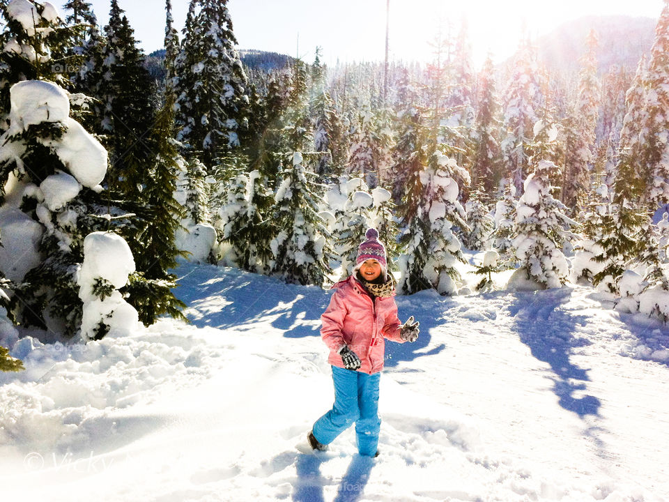
<instances>
[{"instance_id":1,"label":"sunlit snowy ground with blue shadows around the girl","mask_svg":"<svg viewBox=\"0 0 669 502\"><path fill-rule=\"evenodd\" d=\"M18 342L0 374L3 499L669 500L669 329L592 289L398 297L380 457L305 434L332 404L329 294L184 265L190 326L86 347Z\"/></svg>"}]
</instances>

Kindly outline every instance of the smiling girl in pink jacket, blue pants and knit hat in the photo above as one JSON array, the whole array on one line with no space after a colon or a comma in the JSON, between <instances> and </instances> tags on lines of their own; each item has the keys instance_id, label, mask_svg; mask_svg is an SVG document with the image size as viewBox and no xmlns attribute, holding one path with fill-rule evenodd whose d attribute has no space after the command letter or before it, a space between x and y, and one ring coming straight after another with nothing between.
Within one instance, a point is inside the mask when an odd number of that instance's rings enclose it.
<instances>
[{"instance_id":1,"label":"smiling girl in pink jacket, blue pants and knit hat","mask_svg":"<svg viewBox=\"0 0 669 502\"><path fill-rule=\"evenodd\" d=\"M307 439L314 450L326 450L355 422L358 452L376 457L383 339L415 342L419 329L413 316L403 325L397 318L394 280L387 273L385 247L378 241L378 231L369 229L365 236L353 274L334 284L330 305L321 316L321 337L330 348L334 406L316 420Z\"/></svg>"}]
</instances>

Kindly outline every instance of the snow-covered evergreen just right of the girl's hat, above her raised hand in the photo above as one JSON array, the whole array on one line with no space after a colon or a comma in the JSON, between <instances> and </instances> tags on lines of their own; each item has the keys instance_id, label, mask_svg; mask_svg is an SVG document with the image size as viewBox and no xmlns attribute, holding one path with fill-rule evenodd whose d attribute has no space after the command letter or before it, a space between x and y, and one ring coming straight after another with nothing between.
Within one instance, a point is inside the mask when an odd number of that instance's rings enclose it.
<instances>
[{"instance_id":1,"label":"snow-covered evergreen just right of the girl's hat, above her raised hand","mask_svg":"<svg viewBox=\"0 0 669 502\"><path fill-rule=\"evenodd\" d=\"M455 263L464 259L453 227L470 230L454 180L462 171L453 159L437 151L417 173L417 185L408 188L407 197L417 197L417 205L415 213L405 216L402 235L405 250L399 258L398 289L404 294L430 288L439 294L456 293L460 274Z\"/></svg>"}]
</instances>

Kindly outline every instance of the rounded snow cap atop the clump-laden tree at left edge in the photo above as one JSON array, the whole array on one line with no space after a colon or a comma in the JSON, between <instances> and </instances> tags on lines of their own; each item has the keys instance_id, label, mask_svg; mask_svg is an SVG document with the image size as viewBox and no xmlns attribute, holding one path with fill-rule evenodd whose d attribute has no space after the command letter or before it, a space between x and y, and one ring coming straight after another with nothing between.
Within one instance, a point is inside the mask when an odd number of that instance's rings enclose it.
<instances>
[{"instance_id":1,"label":"rounded snow cap atop the clump-laden tree at left edge","mask_svg":"<svg viewBox=\"0 0 669 502\"><path fill-rule=\"evenodd\" d=\"M43 80L24 80L11 86L10 103L13 133L43 122L65 122L70 114L68 93Z\"/></svg>"}]
</instances>

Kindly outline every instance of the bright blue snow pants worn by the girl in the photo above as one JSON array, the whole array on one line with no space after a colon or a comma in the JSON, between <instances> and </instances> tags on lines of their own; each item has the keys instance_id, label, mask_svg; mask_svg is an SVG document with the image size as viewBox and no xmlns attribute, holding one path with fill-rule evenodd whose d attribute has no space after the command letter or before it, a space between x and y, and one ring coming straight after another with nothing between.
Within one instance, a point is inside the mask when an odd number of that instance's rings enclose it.
<instances>
[{"instance_id":1,"label":"bright blue snow pants worn by the girl","mask_svg":"<svg viewBox=\"0 0 669 502\"><path fill-rule=\"evenodd\" d=\"M367 374L332 366L334 406L314 423L314 436L319 443L332 443L341 432L355 422L357 451L374 457L378 446L378 383L380 372Z\"/></svg>"}]
</instances>

